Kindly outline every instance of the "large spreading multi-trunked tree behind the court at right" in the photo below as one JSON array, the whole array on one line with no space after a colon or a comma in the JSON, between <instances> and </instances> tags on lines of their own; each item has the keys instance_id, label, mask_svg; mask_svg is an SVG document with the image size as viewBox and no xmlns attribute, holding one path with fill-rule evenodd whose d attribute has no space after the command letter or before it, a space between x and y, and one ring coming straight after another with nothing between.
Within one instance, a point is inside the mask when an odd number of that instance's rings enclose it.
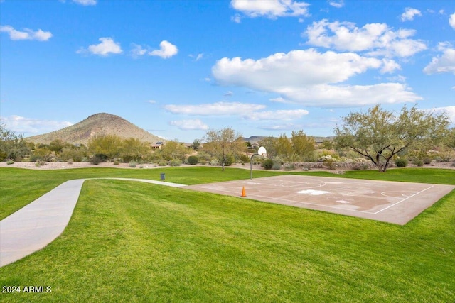
<instances>
[{"instance_id":1,"label":"large spreading multi-trunked tree behind the court at right","mask_svg":"<svg viewBox=\"0 0 455 303\"><path fill-rule=\"evenodd\" d=\"M390 160L404 150L422 149L441 141L449 118L434 111L419 111L403 106L400 113L376 105L367 112L350 113L335 128L334 142L371 160L385 172Z\"/></svg>"}]
</instances>

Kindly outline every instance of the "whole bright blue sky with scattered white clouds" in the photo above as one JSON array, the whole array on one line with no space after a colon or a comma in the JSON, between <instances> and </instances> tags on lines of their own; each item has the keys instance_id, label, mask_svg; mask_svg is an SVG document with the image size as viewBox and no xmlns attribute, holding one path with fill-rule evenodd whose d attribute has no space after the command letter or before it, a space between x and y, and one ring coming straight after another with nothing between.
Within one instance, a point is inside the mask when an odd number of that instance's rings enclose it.
<instances>
[{"instance_id":1,"label":"whole bright blue sky with scattered white clouds","mask_svg":"<svg viewBox=\"0 0 455 303\"><path fill-rule=\"evenodd\" d=\"M455 123L454 1L0 0L1 123L23 136L100 112L185 142L332 136L375 104Z\"/></svg>"}]
</instances>

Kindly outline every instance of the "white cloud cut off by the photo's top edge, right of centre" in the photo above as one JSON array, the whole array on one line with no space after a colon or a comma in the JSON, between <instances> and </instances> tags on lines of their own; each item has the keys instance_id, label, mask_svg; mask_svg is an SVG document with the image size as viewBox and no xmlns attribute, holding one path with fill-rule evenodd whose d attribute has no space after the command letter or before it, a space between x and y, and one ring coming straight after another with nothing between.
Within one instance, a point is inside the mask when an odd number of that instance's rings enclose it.
<instances>
[{"instance_id":1,"label":"white cloud cut off by the photo's top edge, right of centre","mask_svg":"<svg viewBox=\"0 0 455 303\"><path fill-rule=\"evenodd\" d=\"M232 0L230 5L250 18L264 16L274 19L285 16L309 16L309 4L295 0ZM236 15L232 21L239 23L240 18L239 15Z\"/></svg>"}]
</instances>

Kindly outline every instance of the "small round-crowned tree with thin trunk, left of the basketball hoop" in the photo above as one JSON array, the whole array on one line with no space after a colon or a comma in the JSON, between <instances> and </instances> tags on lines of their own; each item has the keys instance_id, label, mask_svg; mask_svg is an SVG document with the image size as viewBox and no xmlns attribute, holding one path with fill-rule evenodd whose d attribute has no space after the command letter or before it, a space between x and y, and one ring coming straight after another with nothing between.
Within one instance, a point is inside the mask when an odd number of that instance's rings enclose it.
<instances>
[{"instance_id":1,"label":"small round-crowned tree with thin trunk, left of the basketball hoop","mask_svg":"<svg viewBox=\"0 0 455 303\"><path fill-rule=\"evenodd\" d=\"M218 158L223 171L228 161L245 149L242 135L235 133L232 128L223 128L218 131L209 130L205 134L204 141L204 150Z\"/></svg>"}]
</instances>

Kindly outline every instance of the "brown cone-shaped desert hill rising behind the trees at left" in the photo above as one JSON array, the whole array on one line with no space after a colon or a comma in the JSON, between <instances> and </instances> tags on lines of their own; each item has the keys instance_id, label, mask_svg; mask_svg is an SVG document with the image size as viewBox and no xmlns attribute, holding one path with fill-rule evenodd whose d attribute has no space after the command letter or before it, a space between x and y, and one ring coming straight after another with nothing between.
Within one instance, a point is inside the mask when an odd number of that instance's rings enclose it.
<instances>
[{"instance_id":1,"label":"brown cone-shaped desert hill rising behind the trees at left","mask_svg":"<svg viewBox=\"0 0 455 303\"><path fill-rule=\"evenodd\" d=\"M144 129L135 126L133 123L122 117L112 114L95 114L72 126L62 128L58 131L44 133L43 135L25 138L26 141L34 143L49 144L55 139L68 143L81 143L87 145L90 138L94 136L117 135L121 138L137 138L140 141L156 143L165 141Z\"/></svg>"}]
</instances>

